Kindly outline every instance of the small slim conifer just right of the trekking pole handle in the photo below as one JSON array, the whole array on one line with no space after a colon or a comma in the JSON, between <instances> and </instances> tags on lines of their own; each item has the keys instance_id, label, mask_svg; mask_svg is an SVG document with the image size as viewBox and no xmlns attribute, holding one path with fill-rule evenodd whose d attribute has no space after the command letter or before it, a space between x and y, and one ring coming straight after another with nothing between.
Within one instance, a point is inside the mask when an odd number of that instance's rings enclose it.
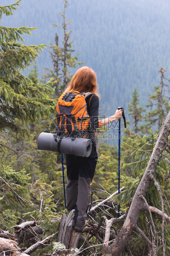
<instances>
[{"instance_id":1,"label":"small slim conifer just right of the trekking pole handle","mask_svg":"<svg viewBox=\"0 0 170 256\"><path fill-rule=\"evenodd\" d=\"M136 134L140 131L140 127L138 126L138 122L142 121L142 111L144 111L143 107L139 107L139 92L135 88L132 94L132 101L128 104L129 114L133 119L133 130Z\"/></svg>"}]
</instances>

